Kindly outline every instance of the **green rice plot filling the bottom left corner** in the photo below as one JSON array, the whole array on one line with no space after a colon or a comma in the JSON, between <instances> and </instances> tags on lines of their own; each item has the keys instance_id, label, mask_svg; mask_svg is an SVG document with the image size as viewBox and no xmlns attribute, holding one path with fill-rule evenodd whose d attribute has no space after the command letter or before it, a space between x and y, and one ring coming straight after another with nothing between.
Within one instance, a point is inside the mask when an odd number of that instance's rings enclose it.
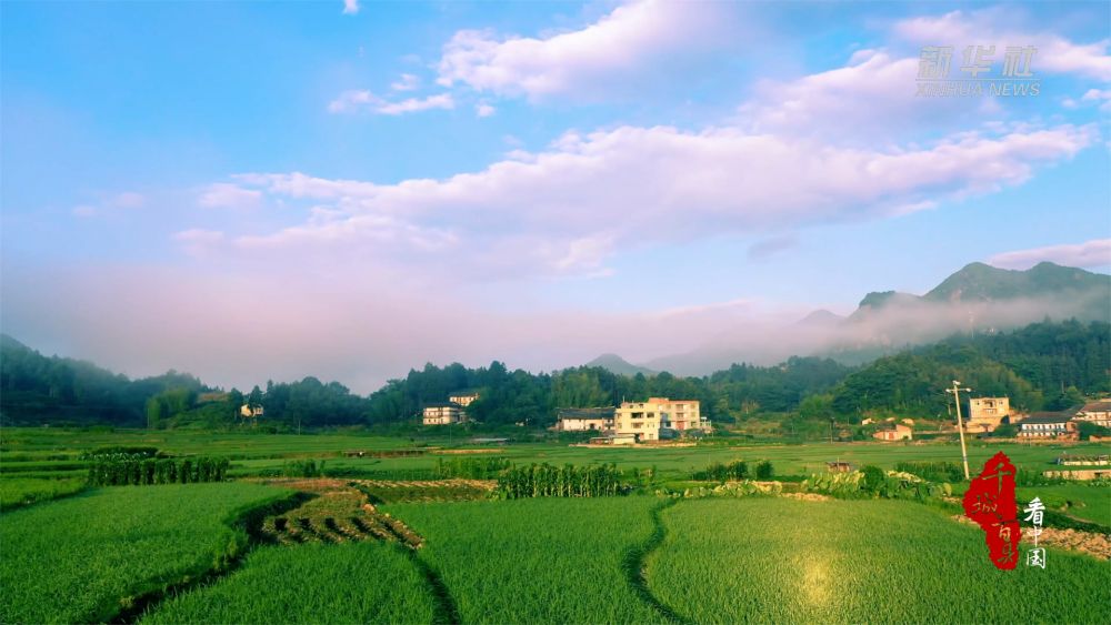
<instances>
[{"instance_id":1,"label":"green rice plot filling the bottom left corner","mask_svg":"<svg viewBox=\"0 0 1111 625\"><path fill-rule=\"evenodd\" d=\"M286 496L253 484L97 488L0 515L0 622L106 621L227 563L229 524Z\"/></svg>"}]
</instances>

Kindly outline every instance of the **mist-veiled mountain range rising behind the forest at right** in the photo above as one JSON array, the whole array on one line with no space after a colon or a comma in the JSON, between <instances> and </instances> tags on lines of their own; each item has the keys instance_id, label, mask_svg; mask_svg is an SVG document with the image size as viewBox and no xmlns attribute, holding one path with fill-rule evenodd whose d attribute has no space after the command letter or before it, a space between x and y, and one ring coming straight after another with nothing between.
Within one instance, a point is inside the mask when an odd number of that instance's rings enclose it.
<instances>
[{"instance_id":1,"label":"mist-veiled mountain range rising behind the forest at right","mask_svg":"<svg viewBox=\"0 0 1111 625\"><path fill-rule=\"evenodd\" d=\"M1049 262L1025 271L977 262L924 295L871 292L848 317L820 310L779 329L738 327L644 364L678 375L704 375L730 363L773 364L789 355L860 365L953 333L994 334L1043 319L1111 321L1111 276Z\"/></svg>"}]
</instances>

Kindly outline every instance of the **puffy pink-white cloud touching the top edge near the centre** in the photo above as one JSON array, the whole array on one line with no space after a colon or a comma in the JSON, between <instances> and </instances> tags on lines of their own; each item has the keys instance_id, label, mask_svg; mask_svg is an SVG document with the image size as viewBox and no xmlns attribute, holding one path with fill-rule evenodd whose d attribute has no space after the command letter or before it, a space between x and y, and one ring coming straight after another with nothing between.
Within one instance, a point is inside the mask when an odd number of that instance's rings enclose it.
<instances>
[{"instance_id":1,"label":"puffy pink-white cloud touching the top edge near the centre","mask_svg":"<svg viewBox=\"0 0 1111 625\"><path fill-rule=\"evenodd\" d=\"M721 43L728 28L719 9L713 2L641 0L548 37L459 31L443 47L438 82L530 99L582 97L651 71L661 59Z\"/></svg>"}]
</instances>

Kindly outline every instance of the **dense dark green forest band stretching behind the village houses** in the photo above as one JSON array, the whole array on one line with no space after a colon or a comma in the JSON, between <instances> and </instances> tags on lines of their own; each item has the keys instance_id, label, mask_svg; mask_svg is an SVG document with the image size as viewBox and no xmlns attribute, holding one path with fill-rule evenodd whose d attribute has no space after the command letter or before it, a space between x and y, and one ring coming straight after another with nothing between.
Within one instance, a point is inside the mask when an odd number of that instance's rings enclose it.
<instances>
[{"instance_id":1,"label":"dense dark green forest band stretching behind the village houses","mask_svg":"<svg viewBox=\"0 0 1111 625\"><path fill-rule=\"evenodd\" d=\"M777 366L734 364L703 377L619 375L597 366L552 373L426 365L369 397L316 377L268 382L246 394L223 392L177 372L131 381L87 362L47 357L4 336L0 342L0 417L4 424L111 424L148 427L267 429L416 423L427 403L480 390L471 416L489 425L550 425L561 407L668 396L699 400L717 422L750 417L805 423L865 414L947 414L943 390L960 380L977 395L1008 395L1028 411L1064 410L1084 395L1111 392L1111 324L1042 322L1009 333L954 335L933 345L852 367L829 359L791 357ZM243 404L263 416L240 417Z\"/></svg>"}]
</instances>

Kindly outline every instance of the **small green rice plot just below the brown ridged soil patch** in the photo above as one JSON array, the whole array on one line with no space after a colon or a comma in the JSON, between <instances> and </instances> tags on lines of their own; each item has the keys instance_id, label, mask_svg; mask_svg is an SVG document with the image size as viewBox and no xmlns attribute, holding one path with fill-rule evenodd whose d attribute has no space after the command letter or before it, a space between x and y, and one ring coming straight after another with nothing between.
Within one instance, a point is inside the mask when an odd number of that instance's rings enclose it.
<instances>
[{"instance_id":1,"label":"small green rice plot just below the brown ridged soil patch","mask_svg":"<svg viewBox=\"0 0 1111 625\"><path fill-rule=\"evenodd\" d=\"M227 577L171 597L141 623L432 623L436 605L403 547L260 547Z\"/></svg>"}]
</instances>

